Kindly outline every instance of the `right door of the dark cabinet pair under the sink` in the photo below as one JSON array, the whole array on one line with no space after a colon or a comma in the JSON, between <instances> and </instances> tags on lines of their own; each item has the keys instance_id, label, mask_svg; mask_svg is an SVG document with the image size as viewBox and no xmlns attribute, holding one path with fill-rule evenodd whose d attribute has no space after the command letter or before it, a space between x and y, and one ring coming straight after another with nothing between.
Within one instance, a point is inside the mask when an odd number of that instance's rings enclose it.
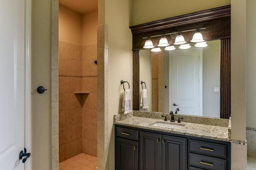
<instances>
[{"instance_id":1,"label":"right door of the dark cabinet pair under the sink","mask_svg":"<svg viewBox=\"0 0 256 170\"><path fill-rule=\"evenodd\" d=\"M162 135L162 169L187 169L187 139Z\"/></svg>"}]
</instances>

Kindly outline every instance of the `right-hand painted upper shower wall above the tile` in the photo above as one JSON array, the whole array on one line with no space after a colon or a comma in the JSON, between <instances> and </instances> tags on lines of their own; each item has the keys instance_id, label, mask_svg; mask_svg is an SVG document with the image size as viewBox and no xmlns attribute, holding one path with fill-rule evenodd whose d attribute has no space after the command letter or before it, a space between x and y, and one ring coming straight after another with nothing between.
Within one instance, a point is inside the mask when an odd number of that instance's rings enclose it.
<instances>
[{"instance_id":1,"label":"right-hand painted upper shower wall above the tile","mask_svg":"<svg viewBox=\"0 0 256 170\"><path fill-rule=\"evenodd\" d=\"M97 43L98 11L82 16L82 45Z\"/></svg>"}]
</instances>

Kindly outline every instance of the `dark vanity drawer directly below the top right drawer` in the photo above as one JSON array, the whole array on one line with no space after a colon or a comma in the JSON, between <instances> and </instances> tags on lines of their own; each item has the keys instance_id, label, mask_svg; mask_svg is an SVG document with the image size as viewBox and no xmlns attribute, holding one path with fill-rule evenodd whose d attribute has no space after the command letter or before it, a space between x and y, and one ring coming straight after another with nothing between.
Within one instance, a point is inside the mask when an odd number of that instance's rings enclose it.
<instances>
[{"instance_id":1,"label":"dark vanity drawer directly below the top right drawer","mask_svg":"<svg viewBox=\"0 0 256 170\"><path fill-rule=\"evenodd\" d=\"M191 166L206 168L209 170L226 170L227 161L220 158L213 158L199 154L189 154L189 162Z\"/></svg>"}]
</instances>

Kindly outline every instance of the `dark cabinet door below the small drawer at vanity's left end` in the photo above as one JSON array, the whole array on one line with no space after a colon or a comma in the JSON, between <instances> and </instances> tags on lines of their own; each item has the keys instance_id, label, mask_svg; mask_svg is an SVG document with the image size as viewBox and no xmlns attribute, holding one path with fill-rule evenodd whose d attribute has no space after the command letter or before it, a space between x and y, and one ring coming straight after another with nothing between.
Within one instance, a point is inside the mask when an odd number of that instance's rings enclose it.
<instances>
[{"instance_id":1,"label":"dark cabinet door below the small drawer at vanity's left end","mask_svg":"<svg viewBox=\"0 0 256 170\"><path fill-rule=\"evenodd\" d=\"M138 142L116 138L116 170L138 170L138 155Z\"/></svg>"}]
</instances>

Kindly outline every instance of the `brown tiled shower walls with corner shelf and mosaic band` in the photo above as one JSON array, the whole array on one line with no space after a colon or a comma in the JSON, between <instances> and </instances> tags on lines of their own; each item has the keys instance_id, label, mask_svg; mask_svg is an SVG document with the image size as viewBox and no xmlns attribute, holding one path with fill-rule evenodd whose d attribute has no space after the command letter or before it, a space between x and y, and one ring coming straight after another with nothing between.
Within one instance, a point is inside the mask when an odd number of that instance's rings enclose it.
<instances>
[{"instance_id":1,"label":"brown tiled shower walls with corner shelf and mosaic band","mask_svg":"<svg viewBox=\"0 0 256 170\"><path fill-rule=\"evenodd\" d=\"M97 156L97 45L59 42L59 161ZM86 92L86 93L75 93Z\"/></svg>"}]
</instances>

